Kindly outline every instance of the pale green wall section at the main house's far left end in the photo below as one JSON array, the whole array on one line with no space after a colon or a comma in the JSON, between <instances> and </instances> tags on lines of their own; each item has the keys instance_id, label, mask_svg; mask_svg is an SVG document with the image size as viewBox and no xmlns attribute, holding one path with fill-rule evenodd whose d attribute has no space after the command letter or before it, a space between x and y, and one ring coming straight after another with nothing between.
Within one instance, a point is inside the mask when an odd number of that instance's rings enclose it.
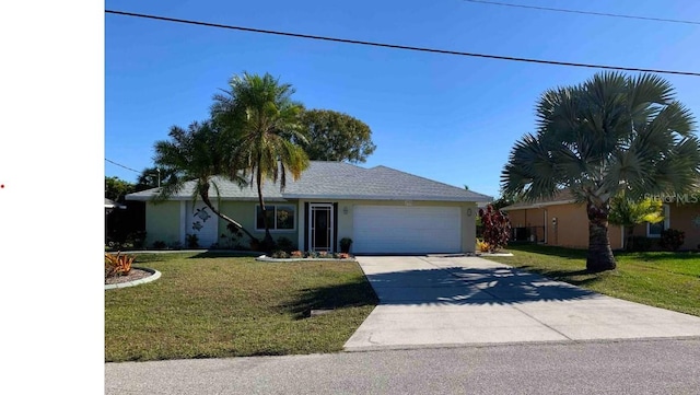
<instances>
[{"instance_id":1,"label":"pale green wall section at the main house's far left end","mask_svg":"<svg viewBox=\"0 0 700 395\"><path fill-rule=\"evenodd\" d=\"M179 201L145 204L145 246L152 247L156 241L167 245L178 243L179 236Z\"/></svg>"}]
</instances>

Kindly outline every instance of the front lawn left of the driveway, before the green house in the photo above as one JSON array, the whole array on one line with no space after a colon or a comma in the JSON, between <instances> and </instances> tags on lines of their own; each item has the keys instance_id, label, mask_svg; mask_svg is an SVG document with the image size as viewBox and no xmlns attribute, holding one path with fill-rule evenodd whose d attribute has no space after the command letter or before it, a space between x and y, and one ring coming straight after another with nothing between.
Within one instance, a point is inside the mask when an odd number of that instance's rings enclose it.
<instances>
[{"instance_id":1,"label":"front lawn left of the driveway, before the green house","mask_svg":"<svg viewBox=\"0 0 700 395\"><path fill-rule=\"evenodd\" d=\"M180 253L133 266L162 277L105 291L106 361L335 352L377 304L354 262Z\"/></svg>"}]
</instances>

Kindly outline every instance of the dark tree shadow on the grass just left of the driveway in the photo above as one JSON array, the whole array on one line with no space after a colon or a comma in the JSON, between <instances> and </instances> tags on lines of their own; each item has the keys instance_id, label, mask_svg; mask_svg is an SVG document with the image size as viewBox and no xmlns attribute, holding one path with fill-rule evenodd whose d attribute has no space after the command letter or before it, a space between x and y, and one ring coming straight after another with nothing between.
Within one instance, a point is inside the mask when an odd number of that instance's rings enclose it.
<instances>
[{"instance_id":1,"label":"dark tree shadow on the grass just left of the driveway","mask_svg":"<svg viewBox=\"0 0 700 395\"><path fill-rule=\"evenodd\" d=\"M376 305L380 300L364 279L341 284L301 290L291 302L279 304L282 313L292 313L298 320L310 316L312 310L337 310Z\"/></svg>"}]
</instances>

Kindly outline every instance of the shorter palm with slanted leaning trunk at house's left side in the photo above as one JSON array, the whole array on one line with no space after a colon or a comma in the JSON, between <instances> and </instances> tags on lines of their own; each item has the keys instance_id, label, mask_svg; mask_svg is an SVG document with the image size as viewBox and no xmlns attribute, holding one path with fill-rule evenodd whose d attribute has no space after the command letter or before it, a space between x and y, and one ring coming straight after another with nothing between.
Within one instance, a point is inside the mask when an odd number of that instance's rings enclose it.
<instances>
[{"instance_id":1,"label":"shorter palm with slanted leaning trunk at house's left side","mask_svg":"<svg viewBox=\"0 0 700 395\"><path fill-rule=\"evenodd\" d=\"M192 123L187 130L174 126L168 136L171 137L170 141L155 142L154 162L163 170L164 174L172 175L166 183L161 184L155 201L167 199L180 190L185 182L195 181L192 199L201 198L213 213L229 222L234 229L243 231L250 237L252 244L257 244L258 240L241 223L214 208L209 196L210 187L213 187L219 195L218 179L220 178L217 176L220 174L228 174L228 178L241 187L246 185L242 177L225 172L231 167L231 158L226 150L235 143L231 135L207 120Z\"/></svg>"}]
</instances>

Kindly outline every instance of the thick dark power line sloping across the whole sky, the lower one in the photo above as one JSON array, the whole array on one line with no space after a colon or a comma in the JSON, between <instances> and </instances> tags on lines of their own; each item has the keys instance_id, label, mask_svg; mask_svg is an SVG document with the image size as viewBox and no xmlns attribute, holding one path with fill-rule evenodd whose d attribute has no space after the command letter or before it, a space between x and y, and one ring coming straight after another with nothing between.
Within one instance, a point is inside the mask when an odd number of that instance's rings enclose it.
<instances>
[{"instance_id":1,"label":"thick dark power line sloping across the whole sky, the lower one","mask_svg":"<svg viewBox=\"0 0 700 395\"><path fill-rule=\"evenodd\" d=\"M512 57L512 56L472 54L472 53L463 53L463 51L457 51L457 50L435 49L435 48L425 48L425 47L412 47L412 46L407 46L407 45L384 44L384 43L374 43L374 42L362 42L362 40L358 40L358 39L325 37L325 36L310 35L310 34L289 33L289 32L268 31L268 30L253 28L253 27L223 25L223 24L218 24L218 23L182 20L182 19L167 18L167 16L139 14L139 13L125 12L125 11L105 10L105 13L116 14L116 15L126 15L126 16L136 16L136 18L145 18L145 19L158 20L158 21L166 21L166 22L177 22L177 23L185 23L185 24L190 24L190 25L199 25L199 26L208 26L208 27L229 28L229 30L243 31L243 32L272 34L272 35L278 35L278 36L287 36L287 37L318 39L318 40L343 43L343 44L368 45L368 46L373 46L373 47L416 50L416 51L432 53L432 54L457 55L457 56L468 56L468 57L476 57L476 58L523 61L523 62L540 63L540 65L556 65L556 66L570 66L570 67L584 67L584 68L593 68L593 69L621 70L621 71L640 71L640 72L654 72L654 73L660 73L660 74L679 74L679 75L700 77L700 72L693 72L693 71L658 70L658 69L645 69L645 68L634 68L634 67L606 66L606 65L578 63L578 62L570 62L570 61L517 58L517 57Z\"/></svg>"}]
</instances>

